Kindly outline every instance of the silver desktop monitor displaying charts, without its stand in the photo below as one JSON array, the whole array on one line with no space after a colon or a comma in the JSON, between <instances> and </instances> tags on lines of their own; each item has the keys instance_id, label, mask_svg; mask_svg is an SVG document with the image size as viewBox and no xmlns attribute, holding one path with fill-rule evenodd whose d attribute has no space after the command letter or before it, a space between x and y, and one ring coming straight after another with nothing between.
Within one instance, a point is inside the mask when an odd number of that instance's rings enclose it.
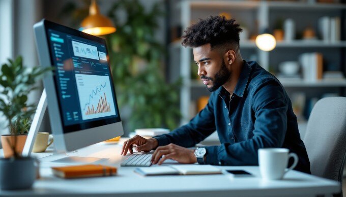
<instances>
[{"instance_id":1,"label":"silver desktop monitor displaying charts, without its stand","mask_svg":"<svg viewBox=\"0 0 346 197\"><path fill-rule=\"evenodd\" d=\"M56 151L124 134L104 39L43 19L34 25Z\"/></svg>"}]
</instances>

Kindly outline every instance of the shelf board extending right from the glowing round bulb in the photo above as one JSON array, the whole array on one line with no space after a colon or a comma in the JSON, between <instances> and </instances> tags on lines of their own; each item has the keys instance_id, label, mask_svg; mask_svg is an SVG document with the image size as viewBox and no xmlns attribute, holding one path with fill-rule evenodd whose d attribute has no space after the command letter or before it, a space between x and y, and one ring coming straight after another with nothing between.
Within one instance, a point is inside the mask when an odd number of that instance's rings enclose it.
<instances>
[{"instance_id":1,"label":"shelf board extending right from the glowing round bulb","mask_svg":"<svg viewBox=\"0 0 346 197\"><path fill-rule=\"evenodd\" d=\"M321 47L321 48L333 48L333 47L346 47L346 41L339 42L325 42L322 40L316 41L305 41L305 40L295 40L292 42L277 42L276 48L284 48L284 47ZM274 49L275 50L275 49Z\"/></svg>"}]
</instances>

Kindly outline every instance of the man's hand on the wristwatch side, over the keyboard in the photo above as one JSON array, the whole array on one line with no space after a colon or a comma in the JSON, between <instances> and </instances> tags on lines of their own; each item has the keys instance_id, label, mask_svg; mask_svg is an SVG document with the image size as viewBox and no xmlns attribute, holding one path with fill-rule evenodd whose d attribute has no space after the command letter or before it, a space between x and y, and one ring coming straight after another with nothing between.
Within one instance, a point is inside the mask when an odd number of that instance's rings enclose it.
<instances>
[{"instance_id":1,"label":"man's hand on the wristwatch side, over the keyboard","mask_svg":"<svg viewBox=\"0 0 346 197\"><path fill-rule=\"evenodd\" d=\"M176 144L159 146L153 154L152 162L153 164L161 165L166 159L173 159L180 163L195 163L197 158L194 155L194 151Z\"/></svg>"}]
</instances>

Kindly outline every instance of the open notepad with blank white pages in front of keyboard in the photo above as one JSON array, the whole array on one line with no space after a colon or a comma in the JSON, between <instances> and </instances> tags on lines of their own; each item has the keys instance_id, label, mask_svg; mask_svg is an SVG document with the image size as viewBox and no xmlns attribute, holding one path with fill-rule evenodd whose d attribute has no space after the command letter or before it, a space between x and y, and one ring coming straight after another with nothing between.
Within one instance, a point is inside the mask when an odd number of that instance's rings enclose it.
<instances>
[{"instance_id":1,"label":"open notepad with blank white pages in front of keyboard","mask_svg":"<svg viewBox=\"0 0 346 197\"><path fill-rule=\"evenodd\" d=\"M134 172L143 176L221 174L220 169L211 165L171 165L150 168L136 168Z\"/></svg>"}]
</instances>

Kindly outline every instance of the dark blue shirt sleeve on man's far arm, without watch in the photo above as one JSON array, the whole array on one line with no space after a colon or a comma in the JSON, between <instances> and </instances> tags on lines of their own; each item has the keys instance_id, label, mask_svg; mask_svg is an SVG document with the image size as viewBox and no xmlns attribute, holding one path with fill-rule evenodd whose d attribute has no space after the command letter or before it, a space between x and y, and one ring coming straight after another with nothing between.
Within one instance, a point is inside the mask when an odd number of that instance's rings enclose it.
<instances>
[{"instance_id":1,"label":"dark blue shirt sleeve on man's far arm, without watch","mask_svg":"<svg viewBox=\"0 0 346 197\"><path fill-rule=\"evenodd\" d=\"M189 123L169 134L155 136L154 138L158 140L159 146L173 143L183 147L192 147L215 132L214 96L215 92L210 96L207 106Z\"/></svg>"}]
</instances>

